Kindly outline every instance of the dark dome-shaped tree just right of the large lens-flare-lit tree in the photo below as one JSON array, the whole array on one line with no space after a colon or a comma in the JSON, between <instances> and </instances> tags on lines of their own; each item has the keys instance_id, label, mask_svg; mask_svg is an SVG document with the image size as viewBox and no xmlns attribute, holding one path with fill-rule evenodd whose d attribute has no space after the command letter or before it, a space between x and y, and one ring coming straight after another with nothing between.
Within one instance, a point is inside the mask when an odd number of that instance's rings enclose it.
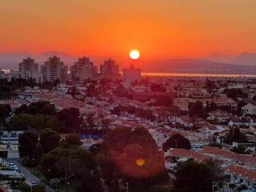
<instances>
[{"instance_id":1,"label":"dark dome-shaped tree just right of the large lens-flare-lit tree","mask_svg":"<svg viewBox=\"0 0 256 192\"><path fill-rule=\"evenodd\" d=\"M191 149L190 140L184 138L181 134L172 135L163 145L162 149L164 151L169 150L170 148L180 148L180 149Z\"/></svg>"}]
</instances>

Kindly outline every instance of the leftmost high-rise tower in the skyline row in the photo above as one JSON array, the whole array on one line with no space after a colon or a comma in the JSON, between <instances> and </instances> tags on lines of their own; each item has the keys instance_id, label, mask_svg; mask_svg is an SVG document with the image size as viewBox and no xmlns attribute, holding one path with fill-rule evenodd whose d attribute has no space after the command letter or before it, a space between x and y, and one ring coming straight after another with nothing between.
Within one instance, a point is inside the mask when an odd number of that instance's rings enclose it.
<instances>
[{"instance_id":1,"label":"leftmost high-rise tower in the skyline row","mask_svg":"<svg viewBox=\"0 0 256 192\"><path fill-rule=\"evenodd\" d=\"M20 78L34 78L39 81L38 63L34 62L34 58L23 59L23 62L19 63L18 70Z\"/></svg>"}]
</instances>

